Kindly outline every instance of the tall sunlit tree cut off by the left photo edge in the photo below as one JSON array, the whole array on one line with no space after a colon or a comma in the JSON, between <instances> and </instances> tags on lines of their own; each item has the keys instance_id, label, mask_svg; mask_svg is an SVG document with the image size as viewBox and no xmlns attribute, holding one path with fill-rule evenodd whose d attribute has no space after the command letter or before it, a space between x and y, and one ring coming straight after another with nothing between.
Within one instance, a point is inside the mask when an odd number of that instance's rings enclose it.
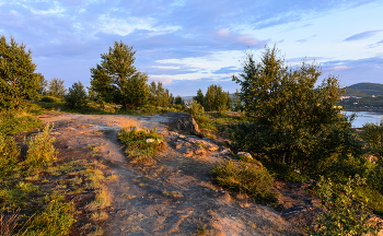
<instances>
[{"instance_id":1,"label":"tall sunlit tree cut off by the left photo edge","mask_svg":"<svg viewBox=\"0 0 383 236\"><path fill-rule=\"evenodd\" d=\"M38 97L39 80L31 54L12 37L9 43L0 37L0 107L19 108L25 99Z\"/></svg>"}]
</instances>

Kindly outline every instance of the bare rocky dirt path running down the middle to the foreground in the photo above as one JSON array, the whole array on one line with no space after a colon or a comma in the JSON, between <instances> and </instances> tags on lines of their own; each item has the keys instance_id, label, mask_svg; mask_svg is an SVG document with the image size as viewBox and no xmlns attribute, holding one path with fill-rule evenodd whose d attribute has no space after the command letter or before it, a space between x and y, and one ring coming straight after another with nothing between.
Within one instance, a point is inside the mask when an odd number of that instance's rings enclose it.
<instances>
[{"instance_id":1,"label":"bare rocky dirt path running down the middle to the foreground","mask_svg":"<svg viewBox=\"0 0 383 236\"><path fill-rule=\"evenodd\" d=\"M60 155L90 149L109 164L118 179L108 184L113 206L104 235L300 235L280 213L212 184L209 172L227 158L219 152L185 155L171 144L162 116L44 115L54 123ZM155 128L169 142L156 164L129 164L117 141L123 127Z\"/></svg>"}]
</instances>

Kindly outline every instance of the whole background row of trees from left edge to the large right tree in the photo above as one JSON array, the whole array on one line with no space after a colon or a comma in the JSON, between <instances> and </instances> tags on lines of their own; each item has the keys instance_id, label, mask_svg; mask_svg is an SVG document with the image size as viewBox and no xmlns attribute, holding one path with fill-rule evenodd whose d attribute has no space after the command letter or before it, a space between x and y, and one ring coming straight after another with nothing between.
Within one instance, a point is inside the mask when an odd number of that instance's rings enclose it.
<instances>
[{"instance_id":1,"label":"whole background row of trees from left edge to the large right tree","mask_svg":"<svg viewBox=\"0 0 383 236\"><path fill-rule=\"evenodd\" d=\"M96 103L102 108L106 104L120 105L121 109L137 109L143 106L175 107L189 106L181 96L174 97L161 82L148 83L148 74L135 67L134 47L115 42L108 51L101 55L101 62L92 68L90 84L86 87L79 81L66 88L59 78L46 80L36 73L31 50L19 45L13 38L8 43L1 36L1 98L0 106L7 109L18 108L25 101L48 103L65 102L69 108L83 108ZM204 95L201 90L194 97L206 111L235 109L229 92L220 85L210 85Z\"/></svg>"}]
</instances>

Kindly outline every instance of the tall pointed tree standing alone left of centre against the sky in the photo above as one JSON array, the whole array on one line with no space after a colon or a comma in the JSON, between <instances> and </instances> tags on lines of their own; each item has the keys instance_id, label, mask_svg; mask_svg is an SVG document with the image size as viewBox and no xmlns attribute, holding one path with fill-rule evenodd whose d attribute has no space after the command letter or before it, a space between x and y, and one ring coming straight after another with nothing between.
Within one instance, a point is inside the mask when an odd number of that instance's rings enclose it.
<instances>
[{"instance_id":1,"label":"tall pointed tree standing alone left of centre against the sky","mask_svg":"<svg viewBox=\"0 0 383 236\"><path fill-rule=\"evenodd\" d=\"M106 102L121 104L121 109L142 106L149 98L148 75L134 66L135 54L134 47L115 42L101 55L101 64L91 69L91 90Z\"/></svg>"}]
</instances>

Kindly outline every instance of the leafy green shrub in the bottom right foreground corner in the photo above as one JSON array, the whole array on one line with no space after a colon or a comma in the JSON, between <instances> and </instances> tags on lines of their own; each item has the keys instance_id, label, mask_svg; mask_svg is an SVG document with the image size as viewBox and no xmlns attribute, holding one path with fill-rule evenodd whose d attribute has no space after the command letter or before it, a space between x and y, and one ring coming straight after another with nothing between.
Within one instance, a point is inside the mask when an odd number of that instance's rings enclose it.
<instances>
[{"instance_id":1,"label":"leafy green shrub in the bottom right foreground corner","mask_svg":"<svg viewBox=\"0 0 383 236\"><path fill-rule=\"evenodd\" d=\"M349 178L345 185L335 185L322 177L316 193L325 212L316 219L318 227L311 235L364 235L376 234L378 228L368 223L365 199L359 199L355 187L363 185L361 178Z\"/></svg>"}]
</instances>

